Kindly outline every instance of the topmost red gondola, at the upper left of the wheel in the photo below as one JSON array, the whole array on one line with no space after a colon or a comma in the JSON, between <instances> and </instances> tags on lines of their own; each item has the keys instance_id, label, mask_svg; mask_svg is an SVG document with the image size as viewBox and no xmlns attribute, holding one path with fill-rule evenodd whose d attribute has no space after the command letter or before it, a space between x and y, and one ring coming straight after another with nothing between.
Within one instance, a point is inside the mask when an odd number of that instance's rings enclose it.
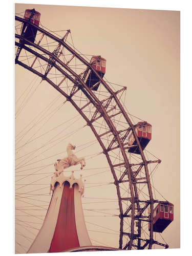
<instances>
[{"instance_id":1,"label":"topmost red gondola, at the upper left of the wheel","mask_svg":"<svg viewBox=\"0 0 192 256\"><path fill-rule=\"evenodd\" d=\"M27 9L25 10L24 19L30 20L31 23L39 26L40 21L40 13L35 11L35 9ZM35 41L35 37L37 34L37 29L31 26L30 24L22 24L21 35L28 39L31 42ZM25 41L26 45L30 45L30 43Z\"/></svg>"}]
</instances>

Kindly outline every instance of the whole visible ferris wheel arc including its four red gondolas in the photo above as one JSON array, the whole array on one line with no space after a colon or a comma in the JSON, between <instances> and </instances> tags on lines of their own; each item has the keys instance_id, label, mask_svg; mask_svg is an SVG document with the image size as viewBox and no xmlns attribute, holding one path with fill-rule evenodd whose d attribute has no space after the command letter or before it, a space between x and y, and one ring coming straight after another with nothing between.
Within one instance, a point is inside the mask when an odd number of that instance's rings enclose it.
<instances>
[{"instance_id":1,"label":"whole visible ferris wheel arc including its four red gondolas","mask_svg":"<svg viewBox=\"0 0 192 256\"><path fill-rule=\"evenodd\" d=\"M173 221L173 204L154 199L152 175L161 160L146 151L152 125L127 112L122 100L126 87L104 78L104 56L87 58L68 42L70 30L60 36L41 26L39 20L40 13L34 9L15 16L15 64L65 97L95 136L116 188L118 248L168 248L155 235ZM16 167L26 165L21 161ZM19 192L19 198L22 194Z\"/></svg>"}]
</instances>

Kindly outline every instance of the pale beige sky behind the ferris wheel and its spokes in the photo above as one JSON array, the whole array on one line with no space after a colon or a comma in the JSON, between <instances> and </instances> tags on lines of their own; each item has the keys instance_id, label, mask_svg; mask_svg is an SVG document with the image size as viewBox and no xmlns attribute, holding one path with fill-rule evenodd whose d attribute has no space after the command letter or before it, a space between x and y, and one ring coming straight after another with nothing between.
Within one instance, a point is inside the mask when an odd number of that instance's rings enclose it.
<instances>
[{"instance_id":1,"label":"pale beige sky behind the ferris wheel and its spokes","mask_svg":"<svg viewBox=\"0 0 192 256\"><path fill-rule=\"evenodd\" d=\"M152 124L152 141L147 145L147 150L162 160L153 176L154 186L164 198L175 206L174 222L165 229L162 236L170 248L179 248L180 12L27 4L16 4L15 12L22 13L25 9L32 8L41 13L40 22L49 30L70 29L74 45L81 53L104 57L106 59L105 77L111 82L127 87L126 108L132 115ZM26 86L29 86L31 81L34 82L35 76L22 67L16 66L15 78L15 98L17 100L25 91ZM38 81L40 81L39 78L36 85ZM31 97L31 101L26 105L26 111L22 111L16 120L16 134L31 120L31 116L37 114L56 95L49 84L42 82ZM59 102L64 100L62 98ZM66 106L67 112L58 111L53 122L48 122L50 128L57 125L56 120L58 119L59 124L62 120L64 122L77 115L69 103ZM75 125L77 128L81 127L84 125L84 121L80 119ZM85 135L86 139L83 138ZM49 140L49 137L45 138L46 140ZM81 145L94 140L94 137L88 129L82 129L73 136L72 140L72 143ZM41 143L45 143L45 141L37 141L36 143L41 146ZM51 154L65 151L67 143L68 140L58 147L52 148ZM26 152L35 148L36 145L30 145ZM90 147L90 152L86 151L83 154L91 155L95 152L100 152L97 145L94 148ZM45 157L50 155L50 153L46 154L44 153ZM62 157L62 154L58 155L59 157ZM53 161L54 159L57 159L57 156L53 158ZM45 164L49 164L50 161L49 159ZM94 161L96 162L88 161L87 168L93 168L93 165L98 166L97 160ZM101 157L99 161L101 161L101 167L107 166L104 158ZM44 175L46 172L52 171L52 167L49 166L49 170L44 169ZM82 172L82 174L83 176L89 175L88 172ZM96 177L97 182L112 181L110 174L93 177ZM49 179L50 177L47 179L48 183ZM86 178L86 180L90 183L96 182L91 177ZM23 181L22 184L25 182ZM99 193L102 195L104 191L99 191L99 189L100 187L90 188L86 191L85 197L90 195L90 197L99 197ZM112 191L111 198L115 197L115 190L110 188L105 191L109 195ZM110 198L109 195L108 198ZM156 197L162 200L158 193ZM49 200L50 198L46 197L46 201ZM86 205L86 207L88 206ZM91 205L90 208L93 207L94 205ZM116 207L117 203L108 204L108 208L115 209ZM114 212L117 214L117 210ZM116 226L115 221L113 222L111 219L112 217L106 221L106 218L103 218L100 221L106 223L108 227L115 226L113 228L118 230L118 223ZM93 221L91 217L87 218L88 222L90 220ZM88 229L91 229L91 226ZM96 238L97 236L98 234L93 235L90 231L90 237ZM106 243L109 242L111 246L112 244L118 246L118 239L118 235L114 234L114 237L108 236L106 238Z\"/></svg>"}]
</instances>

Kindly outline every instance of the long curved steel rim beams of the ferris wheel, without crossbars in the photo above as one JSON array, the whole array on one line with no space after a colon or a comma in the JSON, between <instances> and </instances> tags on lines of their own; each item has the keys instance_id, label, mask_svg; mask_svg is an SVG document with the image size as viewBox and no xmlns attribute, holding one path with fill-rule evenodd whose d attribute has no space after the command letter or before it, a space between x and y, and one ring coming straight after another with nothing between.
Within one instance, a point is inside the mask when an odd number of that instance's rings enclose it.
<instances>
[{"instance_id":1,"label":"long curved steel rim beams of the ferris wheel, without crossbars","mask_svg":"<svg viewBox=\"0 0 192 256\"><path fill-rule=\"evenodd\" d=\"M29 23L28 20L25 20L23 18L20 18L20 17L17 17L15 16L15 19L20 21L20 22L24 22L24 23ZM73 55L75 55L81 62L83 62L84 65L86 65L87 67L89 67L99 78L99 80L101 81L101 83L103 84L103 86L105 87L106 90L108 90L108 92L111 94L111 96L115 99L115 102L117 103L119 109L121 110L125 120L127 121L127 124L129 124L129 126L131 127L132 131L133 131L133 134L134 134L134 137L137 141L137 144L139 146L139 150L140 150L140 153L141 153L141 157L142 157L142 160L143 160L143 165L144 165L144 169L145 169L145 175L146 175L146 180L147 180L147 186L148 186L148 193L149 193L149 196L150 196L150 205L151 205L151 223L153 223L153 203L154 203L154 200L153 200L153 194L152 194L152 188L151 188L151 183L150 183L150 176L148 174L148 167L147 167L147 161L145 159L145 156L143 154L143 151L142 151L142 148L141 148L141 145L140 145L140 142L138 140L138 137L137 137L137 134L135 132L135 127L134 125L132 124L129 116L127 116L126 112L124 111L120 101L118 100L117 98L117 94L116 92L112 91L112 89L109 87L109 85L98 75L98 73L92 68L92 66L90 65L89 62L87 62L85 59L83 59L78 53L76 53L71 47L69 47L65 42L63 42L61 39L59 39L58 37L52 35L51 33L49 33L48 31L38 27L38 26L35 26L34 24L30 24L32 26L34 26L35 28L37 28L38 31L40 31L41 33L44 33L46 34L48 37L54 39L55 41L57 41L59 44L63 45L68 51L70 51ZM22 36L19 36L19 35L15 35L16 38L21 38L22 39ZM25 39L27 41L27 39ZM31 43L31 42L30 42ZM81 91L84 93L84 95L86 95L86 97L88 97L88 99L94 104L95 108L97 109L98 112L100 112L100 114L102 115L102 117L105 119L106 123L108 123L111 131L113 132L114 136L116 137L117 141L118 141L118 145L119 145L119 148L121 150L121 153L122 153L122 156L123 156L123 159L124 159L124 163L125 163L125 167L127 168L127 175L128 175L128 178L129 178L129 186L130 186L130 191L131 191L131 204L132 204L132 221L131 221L131 237L130 237L130 241L129 241L129 245L128 245L128 249L131 249L132 247L132 243L133 243L133 240L135 239L134 237L134 219L135 219L135 199L137 199L138 196L135 197L134 195L134 191L135 191L135 194L137 194L137 188L136 186L134 186L133 182L132 182L132 169L131 169L131 166L130 166L130 163L129 163L129 160L127 159L127 156L124 152L124 148L123 148L123 145L122 145L122 142L120 140L120 137L119 137L119 133L118 131L116 130L112 120L110 119L108 113L106 113L105 109L103 108L103 105L102 103L99 101L99 99L95 96L95 94L92 92L92 90L90 88L88 88L86 86L86 84L81 80L81 78L73 71L71 70L67 65L65 65L65 63L63 63L59 58L57 58L56 56L54 56L51 52L49 51L45 51L45 49L41 48L40 46L36 45L36 44L33 44L31 43L36 49L44 52L44 53L47 53L49 54L55 61L55 63L53 64L53 66L58 69L62 74L68 76L68 78L73 82L75 83L76 81L74 79L72 79L71 76L68 75L68 73L66 73L64 70L62 70L58 65L56 65L56 62L58 62L64 69L66 69L68 72L70 72L82 85L83 85L83 88L80 88ZM18 42L16 42L16 45L19 46ZM41 55L39 56L38 53L36 53L35 51L31 50L30 48L24 46L26 50L28 50L29 52L31 52L32 54L34 54L35 56L38 56L40 58L44 58L44 60L46 62L49 61L48 58L46 57L42 57ZM69 100L71 102L71 104L75 107L75 109L79 112L79 114L84 118L84 120L86 120L87 124L90 126L91 130L93 131L95 137L97 138L102 150L103 150L103 153L105 154L106 156L106 159L108 160L108 163L111 167L111 171L112 171L112 174L113 174L113 177L114 177L114 180L115 180L115 185L116 185L116 189L117 189L117 196L118 196L118 200L119 200L119 209L120 209L120 239L119 239L119 244L120 244L120 248L122 248L122 236L123 236L123 209L122 209L122 202L121 202L121 196L120 196L120 190L119 190L119 184L118 184L118 179L116 177L116 173L115 173L115 170L114 170L114 167L112 165L112 162L111 162L111 159L110 159L110 156L108 154L108 151L106 150L106 148L104 147L99 135L97 134L96 130L94 129L94 126L93 124L91 123L91 121L87 118L86 115L84 115L84 113L78 108L77 104L72 100L71 97L69 97L68 94L66 94L65 92L63 92L59 87L56 86L56 84L54 84L50 79L48 79L47 77L45 77L43 74L41 73L38 73L37 71L33 70L32 68L28 67L27 65L25 65L24 63L20 62L19 60L16 61L16 63L18 63L20 66L23 66L24 68L28 69L29 71L35 73L36 75L38 75L39 77L41 77L42 79L45 79L48 83L51 84L51 86L53 86L59 93L61 93L63 96L66 97L67 100ZM139 206L139 204L138 204ZM152 244L153 244L153 228L151 228L151 231L150 231L150 241L149 241L149 249L151 249L152 247Z\"/></svg>"}]
</instances>

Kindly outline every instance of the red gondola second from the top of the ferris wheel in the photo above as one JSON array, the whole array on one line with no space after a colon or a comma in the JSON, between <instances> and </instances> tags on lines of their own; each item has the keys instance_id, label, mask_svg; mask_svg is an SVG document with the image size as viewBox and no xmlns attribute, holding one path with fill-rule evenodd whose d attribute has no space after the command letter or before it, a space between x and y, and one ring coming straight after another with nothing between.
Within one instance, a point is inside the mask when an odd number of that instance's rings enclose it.
<instances>
[{"instance_id":1,"label":"red gondola second from the top of the ferris wheel","mask_svg":"<svg viewBox=\"0 0 192 256\"><path fill-rule=\"evenodd\" d=\"M101 56L93 56L91 58L90 64L97 71L99 76L103 78L106 69L106 59L101 58ZM92 70L87 69L86 73L83 76L83 80L89 88L94 91L98 90L100 81L97 75Z\"/></svg>"}]
</instances>

